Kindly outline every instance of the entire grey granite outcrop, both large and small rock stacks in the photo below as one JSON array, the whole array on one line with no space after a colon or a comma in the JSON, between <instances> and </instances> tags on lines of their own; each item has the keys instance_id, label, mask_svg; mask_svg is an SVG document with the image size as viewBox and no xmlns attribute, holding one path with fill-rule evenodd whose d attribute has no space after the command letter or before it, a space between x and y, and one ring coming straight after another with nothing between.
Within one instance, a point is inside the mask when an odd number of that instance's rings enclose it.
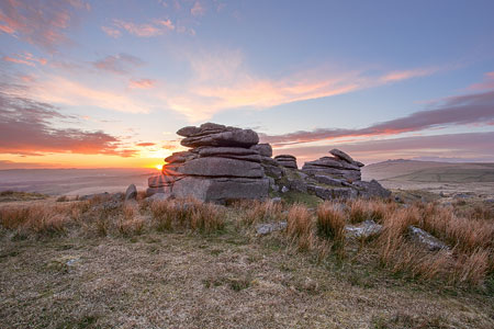
<instances>
[{"instance_id":1,"label":"entire grey granite outcrop, both large and small rock stacks","mask_svg":"<svg viewBox=\"0 0 494 329\"><path fill-rule=\"evenodd\" d=\"M148 179L147 194L158 194L156 200L194 196L225 203L265 198L269 191L295 191L323 200L391 194L377 181L362 182L363 164L338 149L330 150L332 156L305 162L299 170L294 156L272 158L271 146L259 144L251 129L205 123L177 134L184 137L181 145L189 149L166 158L161 174Z\"/></svg>"}]
</instances>

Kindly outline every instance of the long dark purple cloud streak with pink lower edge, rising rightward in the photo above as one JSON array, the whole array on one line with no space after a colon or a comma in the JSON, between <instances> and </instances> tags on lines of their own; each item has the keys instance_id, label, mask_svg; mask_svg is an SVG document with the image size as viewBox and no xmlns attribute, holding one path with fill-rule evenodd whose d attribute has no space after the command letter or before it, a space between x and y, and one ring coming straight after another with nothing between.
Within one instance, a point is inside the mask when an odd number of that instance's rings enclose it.
<instances>
[{"instance_id":1,"label":"long dark purple cloud streak with pink lower edge, rising rightward","mask_svg":"<svg viewBox=\"0 0 494 329\"><path fill-rule=\"evenodd\" d=\"M489 125L494 122L494 91L446 99L438 109L415 112L361 129L319 128L278 136L262 136L266 143L287 145L341 137L386 136L454 125Z\"/></svg>"}]
</instances>

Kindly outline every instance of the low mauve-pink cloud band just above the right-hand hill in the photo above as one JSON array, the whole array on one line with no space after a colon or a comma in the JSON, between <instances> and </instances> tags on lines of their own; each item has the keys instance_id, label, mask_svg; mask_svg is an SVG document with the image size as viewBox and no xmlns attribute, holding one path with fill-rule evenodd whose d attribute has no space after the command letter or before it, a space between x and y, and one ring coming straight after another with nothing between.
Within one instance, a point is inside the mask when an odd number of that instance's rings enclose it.
<instances>
[{"instance_id":1,"label":"low mauve-pink cloud band just above the right-hand hill","mask_svg":"<svg viewBox=\"0 0 494 329\"><path fill-rule=\"evenodd\" d=\"M300 160L300 164L327 156L328 150L335 147L366 163L396 158L431 159L438 158L438 156L444 160L451 158L456 161L463 159L463 161L489 162L494 161L492 145L494 145L494 132L413 136L324 146L296 146L282 150L274 148L274 154L294 155Z\"/></svg>"}]
</instances>

